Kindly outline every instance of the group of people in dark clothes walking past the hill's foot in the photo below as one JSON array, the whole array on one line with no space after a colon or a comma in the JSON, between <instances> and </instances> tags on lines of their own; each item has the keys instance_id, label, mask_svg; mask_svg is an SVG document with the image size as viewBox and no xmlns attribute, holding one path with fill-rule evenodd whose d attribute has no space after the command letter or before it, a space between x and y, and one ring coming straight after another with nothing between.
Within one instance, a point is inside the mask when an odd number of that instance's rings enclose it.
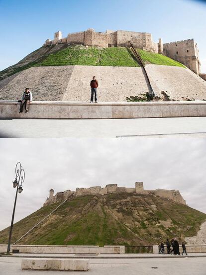
<instances>
[{"instance_id":1,"label":"group of people in dark clothes walking past the hill's foot","mask_svg":"<svg viewBox=\"0 0 206 275\"><path fill-rule=\"evenodd\" d=\"M174 254L174 255L180 255L180 246L178 243L177 238L174 238L171 240L171 242L169 241L169 239L167 239L167 241L165 242L166 247L167 247L167 254ZM171 249L172 247L172 249ZM165 253L165 245L163 242L161 242L161 244L158 246L159 248L159 254L164 254ZM187 255L187 251L186 251L186 246L185 246L185 242L182 242L182 255L185 253L185 255Z\"/></svg>"}]
</instances>

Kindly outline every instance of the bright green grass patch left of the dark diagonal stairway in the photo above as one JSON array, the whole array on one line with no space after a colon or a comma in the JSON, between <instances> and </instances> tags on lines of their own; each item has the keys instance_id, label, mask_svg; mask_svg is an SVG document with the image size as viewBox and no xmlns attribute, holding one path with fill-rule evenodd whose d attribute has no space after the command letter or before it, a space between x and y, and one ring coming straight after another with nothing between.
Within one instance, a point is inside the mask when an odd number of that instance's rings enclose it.
<instances>
[{"instance_id":1,"label":"bright green grass patch left of the dark diagonal stairway","mask_svg":"<svg viewBox=\"0 0 206 275\"><path fill-rule=\"evenodd\" d=\"M50 54L37 66L93 65L138 67L127 48L97 48L69 46L57 53Z\"/></svg>"}]
</instances>

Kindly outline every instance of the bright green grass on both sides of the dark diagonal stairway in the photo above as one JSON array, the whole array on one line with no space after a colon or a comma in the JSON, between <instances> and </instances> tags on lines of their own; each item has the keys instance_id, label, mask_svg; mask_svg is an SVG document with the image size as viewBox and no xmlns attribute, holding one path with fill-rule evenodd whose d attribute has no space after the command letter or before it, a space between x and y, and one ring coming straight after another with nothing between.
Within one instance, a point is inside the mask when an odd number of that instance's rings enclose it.
<instances>
[{"instance_id":1,"label":"bright green grass on both sides of the dark diagonal stairway","mask_svg":"<svg viewBox=\"0 0 206 275\"><path fill-rule=\"evenodd\" d=\"M183 64L161 54L137 49L145 64L182 66ZM70 46L47 56L36 66L93 65L138 67L130 49L125 47L97 48Z\"/></svg>"}]
</instances>

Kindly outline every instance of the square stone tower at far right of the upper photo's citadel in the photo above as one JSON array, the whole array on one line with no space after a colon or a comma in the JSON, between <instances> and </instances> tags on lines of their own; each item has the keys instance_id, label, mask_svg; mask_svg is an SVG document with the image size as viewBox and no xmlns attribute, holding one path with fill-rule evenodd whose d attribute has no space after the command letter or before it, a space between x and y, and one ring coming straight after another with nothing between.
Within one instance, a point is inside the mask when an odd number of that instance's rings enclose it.
<instances>
[{"instance_id":1,"label":"square stone tower at far right of the upper photo's citadel","mask_svg":"<svg viewBox=\"0 0 206 275\"><path fill-rule=\"evenodd\" d=\"M194 39L163 44L163 54L175 59L193 72L200 74L199 49Z\"/></svg>"}]
</instances>

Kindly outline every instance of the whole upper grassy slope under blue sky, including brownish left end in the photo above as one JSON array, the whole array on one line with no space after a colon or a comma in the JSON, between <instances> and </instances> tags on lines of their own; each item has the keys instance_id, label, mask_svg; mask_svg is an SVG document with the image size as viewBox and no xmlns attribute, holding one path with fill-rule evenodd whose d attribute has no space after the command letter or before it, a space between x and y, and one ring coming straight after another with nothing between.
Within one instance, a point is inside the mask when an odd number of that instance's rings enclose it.
<instances>
[{"instance_id":1,"label":"whole upper grassy slope under blue sky, including brownish left end","mask_svg":"<svg viewBox=\"0 0 206 275\"><path fill-rule=\"evenodd\" d=\"M161 54L137 49L145 64L182 66L181 63ZM56 44L41 47L18 63L0 71L0 80L33 66L93 65L139 67L138 62L125 47L98 48L81 45Z\"/></svg>"}]
</instances>

